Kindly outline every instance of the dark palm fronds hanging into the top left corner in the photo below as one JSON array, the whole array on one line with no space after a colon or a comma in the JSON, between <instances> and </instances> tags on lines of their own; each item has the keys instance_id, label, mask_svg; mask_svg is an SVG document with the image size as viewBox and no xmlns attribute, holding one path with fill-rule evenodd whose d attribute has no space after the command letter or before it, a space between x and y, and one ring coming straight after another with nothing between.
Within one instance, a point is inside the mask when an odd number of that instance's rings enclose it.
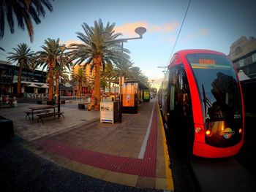
<instances>
[{"instance_id":1,"label":"dark palm fronds hanging into the top left corner","mask_svg":"<svg viewBox=\"0 0 256 192\"><path fill-rule=\"evenodd\" d=\"M14 33L13 15L16 16L18 27L26 28L29 32L30 41L33 42L34 28L33 22L41 23L40 17L45 17L45 8L50 12L53 7L49 0L1 0L0 1L0 39L4 37L5 20L7 20L10 31Z\"/></svg>"}]
</instances>

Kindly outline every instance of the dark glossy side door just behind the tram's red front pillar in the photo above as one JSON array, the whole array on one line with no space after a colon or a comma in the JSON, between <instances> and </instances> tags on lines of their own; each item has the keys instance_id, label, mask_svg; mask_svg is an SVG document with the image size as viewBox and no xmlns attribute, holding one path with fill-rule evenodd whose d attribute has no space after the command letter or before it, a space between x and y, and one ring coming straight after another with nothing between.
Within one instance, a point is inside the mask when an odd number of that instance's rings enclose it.
<instances>
[{"instance_id":1,"label":"dark glossy side door just behind the tram's red front pillar","mask_svg":"<svg viewBox=\"0 0 256 192\"><path fill-rule=\"evenodd\" d=\"M170 69L168 128L170 137L192 147L194 142L194 123L192 117L192 101L183 65ZM192 150L192 149L189 149Z\"/></svg>"}]
</instances>

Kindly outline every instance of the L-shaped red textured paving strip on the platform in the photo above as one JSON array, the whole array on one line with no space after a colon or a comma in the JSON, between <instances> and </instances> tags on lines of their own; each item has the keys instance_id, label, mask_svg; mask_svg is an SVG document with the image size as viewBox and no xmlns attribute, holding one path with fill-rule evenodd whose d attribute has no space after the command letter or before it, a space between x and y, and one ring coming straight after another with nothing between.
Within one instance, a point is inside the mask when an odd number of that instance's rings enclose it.
<instances>
[{"instance_id":1,"label":"L-shaped red textured paving strip on the platform","mask_svg":"<svg viewBox=\"0 0 256 192\"><path fill-rule=\"evenodd\" d=\"M157 106L157 105L156 105ZM143 177L156 176L157 161L157 107L154 107L154 114L151 124L151 132L148 137L146 152L143 159L127 158L117 155L108 155L92 150L80 149L54 139L37 139L34 141L48 153L61 155L72 161L87 164L100 169L112 172L134 174Z\"/></svg>"}]
</instances>

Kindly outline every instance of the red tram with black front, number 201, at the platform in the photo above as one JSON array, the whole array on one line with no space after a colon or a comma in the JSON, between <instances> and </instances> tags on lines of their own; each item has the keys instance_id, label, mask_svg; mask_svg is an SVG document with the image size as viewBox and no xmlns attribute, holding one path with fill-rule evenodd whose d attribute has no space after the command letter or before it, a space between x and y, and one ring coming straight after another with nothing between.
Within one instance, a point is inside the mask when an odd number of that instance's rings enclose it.
<instances>
[{"instance_id":1,"label":"red tram with black front, number 201, at the platform","mask_svg":"<svg viewBox=\"0 0 256 192\"><path fill-rule=\"evenodd\" d=\"M173 55L158 93L171 139L206 158L235 155L244 142L244 102L233 63L213 50Z\"/></svg>"}]
</instances>

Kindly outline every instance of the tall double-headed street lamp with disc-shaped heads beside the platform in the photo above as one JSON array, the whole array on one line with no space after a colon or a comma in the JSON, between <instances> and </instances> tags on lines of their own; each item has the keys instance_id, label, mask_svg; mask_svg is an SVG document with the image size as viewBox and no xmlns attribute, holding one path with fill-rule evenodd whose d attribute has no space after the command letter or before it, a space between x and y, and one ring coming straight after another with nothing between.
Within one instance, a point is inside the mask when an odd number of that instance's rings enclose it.
<instances>
[{"instance_id":1,"label":"tall double-headed street lamp with disc-shaped heads beside the platform","mask_svg":"<svg viewBox=\"0 0 256 192\"><path fill-rule=\"evenodd\" d=\"M102 32L102 35L104 37L104 39L106 40L105 42L121 42L121 53L123 53L124 51L124 42L127 42L129 40L133 40L133 39L143 39L143 34L146 33L146 28L144 27L138 27L135 28L135 33L138 34L140 37L133 37L133 38L125 38L125 39L113 39L113 40L109 40L111 34L108 31L104 31ZM123 96L122 96L122 78L123 74L122 74L122 70L120 71L120 77L119 77L119 107L118 107L118 123L122 122L122 113L121 113L121 108L122 108L122 102L123 102Z\"/></svg>"}]
</instances>

